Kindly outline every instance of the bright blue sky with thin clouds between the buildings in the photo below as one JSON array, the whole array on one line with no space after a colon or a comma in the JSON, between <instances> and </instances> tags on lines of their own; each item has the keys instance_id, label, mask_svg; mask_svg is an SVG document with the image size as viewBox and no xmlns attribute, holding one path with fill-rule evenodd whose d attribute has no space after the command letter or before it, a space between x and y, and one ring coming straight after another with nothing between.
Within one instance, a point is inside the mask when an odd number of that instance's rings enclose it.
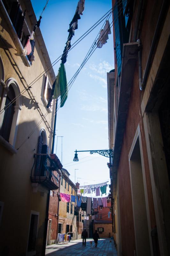
<instances>
[{"instance_id":1,"label":"bright blue sky with thin clouds between the buildings","mask_svg":"<svg viewBox=\"0 0 170 256\"><path fill-rule=\"evenodd\" d=\"M63 53L68 37L67 30L77 3L78 0L49 0L43 12L40 28L51 62ZM32 0L32 4L38 19L46 1ZM111 0L85 0L85 10L81 20L78 20L78 29L75 30L71 44L111 8ZM112 17L110 22L111 19ZM81 65L103 23L104 21L68 53L65 64L67 81L70 81ZM114 68L113 51L112 32L107 44L97 48L85 64L70 88L65 105L57 112L56 139L57 136L63 136L62 164L70 172L73 182L75 169L79 169L76 171L76 181L78 179L80 185L109 180L108 158L82 152L78 153L79 162L72 160L76 149L108 149L107 72ZM59 65L60 61L54 66L55 74ZM56 155L60 160L61 151L61 137L58 137Z\"/></svg>"}]
</instances>

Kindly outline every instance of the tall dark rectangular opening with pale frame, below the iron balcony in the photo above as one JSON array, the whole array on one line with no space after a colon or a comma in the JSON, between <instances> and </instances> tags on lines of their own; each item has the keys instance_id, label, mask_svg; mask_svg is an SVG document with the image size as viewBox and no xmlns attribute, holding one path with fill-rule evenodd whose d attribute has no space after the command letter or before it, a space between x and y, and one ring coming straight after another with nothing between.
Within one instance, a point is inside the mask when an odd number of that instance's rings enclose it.
<instances>
[{"instance_id":1,"label":"tall dark rectangular opening with pale frame, below the iron balcony","mask_svg":"<svg viewBox=\"0 0 170 256\"><path fill-rule=\"evenodd\" d=\"M32 211L31 212L31 220L30 220L30 228L29 228L29 236L28 236L28 249L27 249L28 252L32 252L32 251L35 252L37 229L38 229L38 219L39 219L39 213Z\"/></svg>"}]
</instances>

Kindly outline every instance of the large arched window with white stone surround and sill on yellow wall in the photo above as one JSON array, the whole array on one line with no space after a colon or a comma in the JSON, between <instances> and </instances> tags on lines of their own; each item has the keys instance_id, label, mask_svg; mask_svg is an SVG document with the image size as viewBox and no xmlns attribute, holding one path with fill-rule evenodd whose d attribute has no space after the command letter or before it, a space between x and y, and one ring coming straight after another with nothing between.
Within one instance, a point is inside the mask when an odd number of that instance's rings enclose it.
<instances>
[{"instance_id":1,"label":"large arched window with white stone surround and sill on yellow wall","mask_svg":"<svg viewBox=\"0 0 170 256\"><path fill-rule=\"evenodd\" d=\"M20 90L13 78L6 81L4 89L0 109L4 109L0 118L0 135L14 147L18 130L19 110L21 110L21 97L14 99L20 94ZM16 153L9 144L4 146L12 153Z\"/></svg>"}]
</instances>

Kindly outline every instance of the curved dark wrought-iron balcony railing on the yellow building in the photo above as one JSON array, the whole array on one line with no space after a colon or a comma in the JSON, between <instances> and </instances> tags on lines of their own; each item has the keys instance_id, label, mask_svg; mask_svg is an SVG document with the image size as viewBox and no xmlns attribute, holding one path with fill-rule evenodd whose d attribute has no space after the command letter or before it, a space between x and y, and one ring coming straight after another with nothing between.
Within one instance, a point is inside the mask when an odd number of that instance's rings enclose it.
<instances>
[{"instance_id":1,"label":"curved dark wrought-iron balcony railing on the yellow building","mask_svg":"<svg viewBox=\"0 0 170 256\"><path fill-rule=\"evenodd\" d=\"M34 164L31 170L31 182L40 183L50 190L59 188L57 165L48 154L34 154Z\"/></svg>"}]
</instances>

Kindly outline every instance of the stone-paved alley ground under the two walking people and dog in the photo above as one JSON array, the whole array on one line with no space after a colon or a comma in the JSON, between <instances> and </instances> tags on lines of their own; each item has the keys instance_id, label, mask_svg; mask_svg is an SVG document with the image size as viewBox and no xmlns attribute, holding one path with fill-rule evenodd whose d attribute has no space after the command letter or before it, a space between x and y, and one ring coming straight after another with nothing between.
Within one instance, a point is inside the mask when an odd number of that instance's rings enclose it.
<instances>
[{"instance_id":1,"label":"stone-paved alley ground under the two walking people and dog","mask_svg":"<svg viewBox=\"0 0 170 256\"><path fill-rule=\"evenodd\" d=\"M82 239L70 241L68 244L52 244L46 247L47 256L117 256L113 239L101 238L97 247L92 239L86 240L86 246L82 246ZM111 241L111 242L110 242Z\"/></svg>"}]
</instances>

